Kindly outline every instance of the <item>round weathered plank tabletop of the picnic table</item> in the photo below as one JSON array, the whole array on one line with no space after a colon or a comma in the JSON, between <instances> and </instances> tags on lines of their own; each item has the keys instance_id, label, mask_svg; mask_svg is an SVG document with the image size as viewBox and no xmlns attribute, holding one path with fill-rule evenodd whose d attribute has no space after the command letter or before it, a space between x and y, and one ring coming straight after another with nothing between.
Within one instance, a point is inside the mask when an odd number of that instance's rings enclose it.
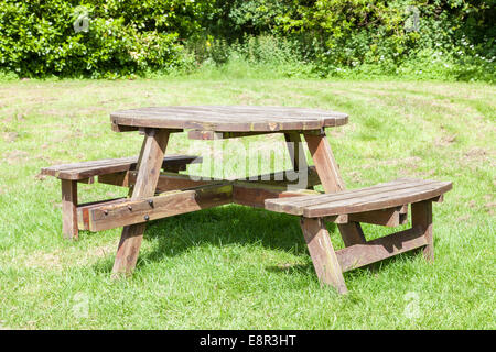
<instances>
[{"instance_id":1,"label":"round weathered plank tabletop of the picnic table","mask_svg":"<svg viewBox=\"0 0 496 352\"><path fill-rule=\"evenodd\" d=\"M254 106L150 107L116 111L110 119L125 128L216 132L308 131L348 122L346 113L331 110Z\"/></svg>"}]
</instances>

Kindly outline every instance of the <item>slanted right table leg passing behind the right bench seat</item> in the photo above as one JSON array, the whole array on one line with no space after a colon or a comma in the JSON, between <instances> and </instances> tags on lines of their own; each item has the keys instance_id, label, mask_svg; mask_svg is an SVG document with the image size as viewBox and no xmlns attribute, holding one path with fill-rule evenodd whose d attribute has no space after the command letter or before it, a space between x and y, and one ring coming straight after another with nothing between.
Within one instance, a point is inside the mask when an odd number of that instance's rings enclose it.
<instances>
[{"instance_id":1,"label":"slanted right table leg passing behind the right bench seat","mask_svg":"<svg viewBox=\"0 0 496 352\"><path fill-rule=\"evenodd\" d=\"M345 186L325 132L320 135L304 134L304 138L325 193L331 194L344 190ZM343 223L337 227L346 246L366 242L358 222Z\"/></svg>"}]
</instances>

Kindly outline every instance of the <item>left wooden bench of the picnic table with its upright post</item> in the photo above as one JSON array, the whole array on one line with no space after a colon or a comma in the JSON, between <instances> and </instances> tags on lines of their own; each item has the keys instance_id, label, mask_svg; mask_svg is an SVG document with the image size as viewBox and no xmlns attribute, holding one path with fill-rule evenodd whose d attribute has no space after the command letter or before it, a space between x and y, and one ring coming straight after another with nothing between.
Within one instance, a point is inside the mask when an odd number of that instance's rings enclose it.
<instances>
[{"instance_id":1,"label":"left wooden bench of the picnic table with its upright post","mask_svg":"<svg viewBox=\"0 0 496 352\"><path fill-rule=\"evenodd\" d=\"M202 158L194 155L165 155L162 168L177 173L186 169L186 165L202 163ZM41 175L54 176L62 182L62 220L63 233L67 238L77 239L77 209L86 205L77 204L77 183L93 183L94 177L115 177L136 169L138 156L107 158L73 164L54 165L41 169ZM103 179L105 180L105 179ZM111 200L117 201L117 200Z\"/></svg>"}]
</instances>

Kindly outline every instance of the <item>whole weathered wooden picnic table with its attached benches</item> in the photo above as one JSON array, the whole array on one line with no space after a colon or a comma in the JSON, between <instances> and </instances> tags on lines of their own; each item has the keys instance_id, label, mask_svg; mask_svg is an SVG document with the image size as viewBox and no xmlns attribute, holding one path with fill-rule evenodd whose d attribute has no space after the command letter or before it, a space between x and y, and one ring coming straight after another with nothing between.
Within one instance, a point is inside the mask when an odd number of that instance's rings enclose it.
<instances>
[{"instance_id":1,"label":"whole weathered wooden picnic table with its attached benches","mask_svg":"<svg viewBox=\"0 0 496 352\"><path fill-rule=\"evenodd\" d=\"M139 130L144 134L138 156L54 165L44 167L42 174L62 182L65 237L77 239L78 230L123 227L112 275L129 274L134 268L148 221L228 204L300 217L319 279L341 294L347 292L343 272L420 248L428 261L434 260L432 204L443 200L452 183L399 178L345 190L325 135L325 128L347 122L345 113L287 107L209 106L141 108L116 111L110 117L114 131ZM196 155L165 155L170 134L185 131L195 140L282 133L291 169L248 179L246 175L219 179L181 174L187 165L202 163ZM314 166L309 166L302 136ZM93 183L95 177L98 183L127 187L128 197L78 204L77 184ZM325 194L312 189L316 185L322 185ZM389 228L403 226L408 223L409 209L411 228L366 240L360 222ZM326 222L337 226L344 249L334 250Z\"/></svg>"}]
</instances>

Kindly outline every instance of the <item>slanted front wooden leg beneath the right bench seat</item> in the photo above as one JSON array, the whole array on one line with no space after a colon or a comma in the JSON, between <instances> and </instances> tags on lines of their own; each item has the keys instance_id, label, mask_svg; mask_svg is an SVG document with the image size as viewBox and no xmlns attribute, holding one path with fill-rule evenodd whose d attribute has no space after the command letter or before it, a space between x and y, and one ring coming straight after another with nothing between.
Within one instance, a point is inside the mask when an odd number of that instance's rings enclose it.
<instances>
[{"instance_id":1,"label":"slanted front wooden leg beneath the right bench seat","mask_svg":"<svg viewBox=\"0 0 496 352\"><path fill-rule=\"evenodd\" d=\"M343 272L324 221L302 218L301 229L320 282L334 286L339 294L346 294Z\"/></svg>"}]
</instances>

